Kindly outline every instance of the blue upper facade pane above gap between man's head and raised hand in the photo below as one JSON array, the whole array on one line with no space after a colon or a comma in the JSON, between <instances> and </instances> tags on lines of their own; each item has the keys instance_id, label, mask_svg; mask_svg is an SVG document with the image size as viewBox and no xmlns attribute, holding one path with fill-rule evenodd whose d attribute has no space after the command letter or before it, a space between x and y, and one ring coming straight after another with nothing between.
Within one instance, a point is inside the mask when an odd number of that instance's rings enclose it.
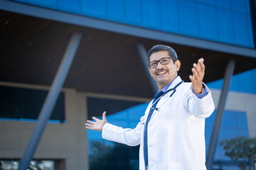
<instances>
[{"instance_id":1,"label":"blue upper facade pane above gap between man's head and raised hand","mask_svg":"<svg viewBox=\"0 0 256 170\"><path fill-rule=\"evenodd\" d=\"M187 35L198 35L198 16L196 3L193 1L178 1L180 30Z\"/></svg>"}]
</instances>

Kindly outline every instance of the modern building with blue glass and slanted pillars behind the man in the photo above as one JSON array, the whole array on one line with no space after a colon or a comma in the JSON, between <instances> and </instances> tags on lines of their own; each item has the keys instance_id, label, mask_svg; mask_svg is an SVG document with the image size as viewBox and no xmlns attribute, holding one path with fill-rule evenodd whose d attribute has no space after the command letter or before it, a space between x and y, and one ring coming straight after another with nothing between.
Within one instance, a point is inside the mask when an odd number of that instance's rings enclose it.
<instances>
[{"instance_id":1,"label":"modern building with blue glass and slanted pillars behind the man","mask_svg":"<svg viewBox=\"0 0 256 170\"><path fill-rule=\"evenodd\" d=\"M156 44L176 50L185 81L205 59L217 108L206 147L221 125L213 169L238 169L219 143L256 137L255 8L255 0L1 0L0 169L17 169L30 148L36 169L138 169L138 147L102 140L85 121L107 111L110 123L137 125L156 91L145 57ZM48 95L57 86L60 95ZM51 103L43 135L28 145Z\"/></svg>"}]
</instances>

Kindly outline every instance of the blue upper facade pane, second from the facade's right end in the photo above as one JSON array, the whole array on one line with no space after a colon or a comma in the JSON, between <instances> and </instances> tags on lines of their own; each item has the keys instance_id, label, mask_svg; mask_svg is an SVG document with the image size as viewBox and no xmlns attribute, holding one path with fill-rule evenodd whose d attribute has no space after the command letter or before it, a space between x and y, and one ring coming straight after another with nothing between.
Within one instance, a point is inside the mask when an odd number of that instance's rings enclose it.
<instances>
[{"instance_id":1,"label":"blue upper facade pane, second from the facade's right end","mask_svg":"<svg viewBox=\"0 0 256 170\"><path fill-rule=\"evenodd\" d=\"M234 43L231 11L217 9L219 40Z\"/></svg>"}]
</instances>

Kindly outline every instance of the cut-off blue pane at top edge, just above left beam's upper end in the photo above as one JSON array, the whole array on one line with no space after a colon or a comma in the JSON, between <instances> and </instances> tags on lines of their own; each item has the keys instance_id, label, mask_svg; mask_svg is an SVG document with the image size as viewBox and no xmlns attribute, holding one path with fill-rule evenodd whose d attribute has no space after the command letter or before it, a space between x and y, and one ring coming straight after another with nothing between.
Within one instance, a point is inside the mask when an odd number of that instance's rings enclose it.
<instances>
[{"instance_id":1,"label":"cut-off blue pane at top edge, just above left beam's upper end","mask_svg":"<svg viewBox=\"0 0 256 170\"><path fill-rule=\"evenodd\" d=\"M60 10L64 11L73 11L73 12L80 12L81 8L81 1L80 0L58 0L58 6Z\"/></svg>"}]
</instances>

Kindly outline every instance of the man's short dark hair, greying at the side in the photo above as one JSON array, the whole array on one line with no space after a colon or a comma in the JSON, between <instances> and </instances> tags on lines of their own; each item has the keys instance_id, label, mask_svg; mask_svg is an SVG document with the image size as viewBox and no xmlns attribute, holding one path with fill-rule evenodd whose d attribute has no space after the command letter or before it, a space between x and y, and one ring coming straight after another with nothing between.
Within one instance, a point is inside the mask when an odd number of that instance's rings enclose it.
<instances>
[{"instance_id":1,"label":"man's short dark hair, greying at the side","mask_svg":"<svg viewBox=\"0 0 256 170\"><path fill-rule=\"evenodd\" d=\"M154 53L154 52L159 52L159 51L167 51L169 53L169 56L174 60L178 60L178 56L174 49L172 47L169 47L167 45L155 45L149 50L148 53L148 62L149 62L149 57Z\"/></svg>"}]
</instances>

